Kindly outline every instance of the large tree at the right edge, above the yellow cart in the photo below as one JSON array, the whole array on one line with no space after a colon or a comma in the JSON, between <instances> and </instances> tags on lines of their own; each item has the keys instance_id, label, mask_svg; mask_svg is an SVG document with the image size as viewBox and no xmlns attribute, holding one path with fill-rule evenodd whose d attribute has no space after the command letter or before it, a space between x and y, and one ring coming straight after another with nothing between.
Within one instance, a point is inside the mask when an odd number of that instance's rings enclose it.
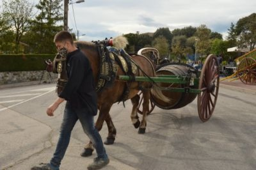
<instances>
[{"instance_id":1,"label":"large tree at the right edge, above the yellow cart","mask_svg":"<svg viewBox=\"0 0 256 170\"><path fill-rule=\"evenodd\" d=\"M249 47L250 50L256 46L256 13L241 18L236 23L236 35L238 46Z\"/></svg>"}]
</instances>

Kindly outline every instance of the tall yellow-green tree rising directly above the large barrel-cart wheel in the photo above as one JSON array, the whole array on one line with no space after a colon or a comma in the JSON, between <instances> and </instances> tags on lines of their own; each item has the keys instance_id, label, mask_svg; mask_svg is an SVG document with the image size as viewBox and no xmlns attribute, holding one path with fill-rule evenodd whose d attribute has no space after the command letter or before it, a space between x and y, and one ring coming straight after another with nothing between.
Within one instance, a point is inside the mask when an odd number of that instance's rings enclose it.
<instances>
[{"instance_id":1,"label":"tall yellow-green tree rising directly above the large barrel-cart wheel","mask_svg":"<svg viewBox=\"0 0 256 170\"><path fill-rule=\"evenodd\" d=\"M210 51L210 35L211 30L206 25L201 25L196 30L196 36L198 38L196 50L201 54L201 57Z\"/></svg>"}]
</instances>

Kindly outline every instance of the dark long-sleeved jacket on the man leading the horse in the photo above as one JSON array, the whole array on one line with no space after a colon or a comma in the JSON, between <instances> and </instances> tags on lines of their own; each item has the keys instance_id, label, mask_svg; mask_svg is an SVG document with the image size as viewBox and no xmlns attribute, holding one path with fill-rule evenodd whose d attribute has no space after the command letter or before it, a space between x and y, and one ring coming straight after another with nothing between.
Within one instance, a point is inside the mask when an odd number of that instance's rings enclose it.
<instances>
[{"instance_id":1,"label":"dark long-sleeved jacket on the man leading the horse","mask_svg":"<svg viewBox=\"0 0 256 170\"><path fill-rule=\"evenodd\" d=\"M72 51L67 54L66 68L68 82L59 97L77 112L97 115L97 92L88 58L79 49Z\"/></svg>"}]
</instances>

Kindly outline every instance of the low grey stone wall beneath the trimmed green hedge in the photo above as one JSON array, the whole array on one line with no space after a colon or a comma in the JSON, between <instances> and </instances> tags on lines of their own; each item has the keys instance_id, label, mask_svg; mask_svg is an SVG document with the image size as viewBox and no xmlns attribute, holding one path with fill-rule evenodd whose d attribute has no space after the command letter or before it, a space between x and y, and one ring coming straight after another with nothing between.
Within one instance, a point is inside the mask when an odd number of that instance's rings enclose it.
<instances>
[{"instance_id":1,"label":"low grey stone wall beneath the trimmed green hedge","mask_svg":"<svg viewBox=\"0 0 256 170\"><path fill-rule=\"evenodd\" d=\"M46 71L0 72L0 85L40 81L41 77L41 82L51 82L49 74L56 82L58 74L48 73Z\"/></svg>"}]
</instances>

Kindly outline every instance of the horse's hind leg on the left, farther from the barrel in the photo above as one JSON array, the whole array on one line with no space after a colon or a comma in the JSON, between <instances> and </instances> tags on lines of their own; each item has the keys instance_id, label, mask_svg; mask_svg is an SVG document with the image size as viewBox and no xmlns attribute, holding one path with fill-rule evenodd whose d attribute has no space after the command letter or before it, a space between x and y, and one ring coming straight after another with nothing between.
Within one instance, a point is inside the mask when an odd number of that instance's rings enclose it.
<instances>
[{"instance_id":1,"label":"horse's hind leg on the left, farther from the barrel","mask_svg":"<svg viewBox=\"0 0 256 170\"><path fill-rule=\"evenodd\" d=\"M132 101L132 113L131 113L131 119L133 126L137 129L140 125L139 116L137 112L137 107L139 105L140 96L136 94L136 96L131 98Z\"/></svg>"}]
</instances>

